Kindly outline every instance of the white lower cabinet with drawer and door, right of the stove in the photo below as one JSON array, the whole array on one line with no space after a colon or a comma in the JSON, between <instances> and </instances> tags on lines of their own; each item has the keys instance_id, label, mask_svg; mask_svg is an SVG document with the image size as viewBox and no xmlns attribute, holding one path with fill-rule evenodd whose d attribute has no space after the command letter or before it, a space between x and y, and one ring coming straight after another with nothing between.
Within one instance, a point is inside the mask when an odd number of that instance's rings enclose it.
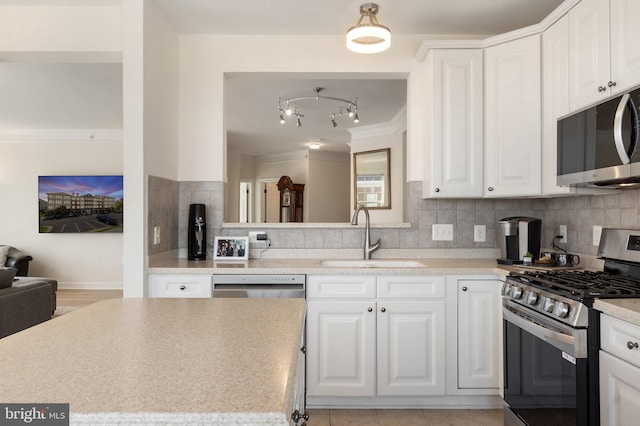
<instances>
[{"instance_id":1,"label":"white lower cabinet with drawer and door, right of the stove","mask_svg":"<svg viewBox=\"0 0 640 426\"><path fill-rule=\"evenodd\" d=\"M638 424L640 327L607 315L600 327L600 424Z\"/></svg>"}]
</instances>

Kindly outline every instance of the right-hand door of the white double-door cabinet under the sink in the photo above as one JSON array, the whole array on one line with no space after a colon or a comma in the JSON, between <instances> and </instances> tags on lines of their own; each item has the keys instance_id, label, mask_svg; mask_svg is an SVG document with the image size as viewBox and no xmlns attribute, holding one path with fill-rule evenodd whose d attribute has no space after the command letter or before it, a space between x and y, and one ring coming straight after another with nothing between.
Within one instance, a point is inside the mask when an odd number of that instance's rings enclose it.
<instances>
[{"instance_id":1,"label":"right-hand door of the white double-door cabinet under the sink","mask_svg":"<svg viewBox=\"0 0 640 426\"><path fill-rule=\"evenodd\" d=\"M378 395L444 395L444 301L378 301Z\"/></svg>"}]
</instances>

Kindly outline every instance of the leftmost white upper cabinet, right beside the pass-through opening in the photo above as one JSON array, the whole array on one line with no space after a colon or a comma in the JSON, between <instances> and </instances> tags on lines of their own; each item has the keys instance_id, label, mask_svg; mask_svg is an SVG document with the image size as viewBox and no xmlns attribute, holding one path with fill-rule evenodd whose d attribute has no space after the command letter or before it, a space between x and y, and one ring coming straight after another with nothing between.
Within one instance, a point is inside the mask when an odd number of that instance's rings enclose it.
<instances>
[{"instance_id":1,"label":"leftmost white upper cabinet, right beside the pass-through opening","mask_svg":"<svg viewBox=\"0 0 640 426\"><path fill-rule=\"evenodd\" d=\"M483 194L482 56L482 49L433 49L427 55L425 198Z\"/></svg>"}]
</instances>

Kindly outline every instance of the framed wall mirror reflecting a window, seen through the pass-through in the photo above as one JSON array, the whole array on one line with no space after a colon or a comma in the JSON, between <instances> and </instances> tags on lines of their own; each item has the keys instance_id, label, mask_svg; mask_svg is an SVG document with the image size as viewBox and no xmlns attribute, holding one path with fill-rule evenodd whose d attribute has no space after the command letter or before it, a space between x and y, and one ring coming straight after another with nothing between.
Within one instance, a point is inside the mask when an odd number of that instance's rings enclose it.
<instances>
[{"instance_id":1,"label":"framed wall mirror reflecting a window, seen through the pass-through","mask_svg":"<svg viewBox=\"0 0 640 426\"><path fill-rule=\"evenodd\" d=\"M364 204L369 209L391 208L390 157L390 148L353 154L354 207Z\"/></svg>"}]
</instances>

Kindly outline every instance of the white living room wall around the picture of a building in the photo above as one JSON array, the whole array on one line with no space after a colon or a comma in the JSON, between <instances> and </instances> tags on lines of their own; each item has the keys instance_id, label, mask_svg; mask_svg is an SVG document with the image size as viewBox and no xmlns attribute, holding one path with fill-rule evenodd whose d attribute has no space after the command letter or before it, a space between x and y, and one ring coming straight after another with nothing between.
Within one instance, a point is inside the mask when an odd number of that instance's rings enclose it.
<instances>
[{"instance_id":1,"label":"white living room wall around the picture of a building","mask_svg":"<svg viewBox=\"0 0 640 426\"><path fill-rule=\"evenodd\" d=\"M29 275L62 288L122 286L122 234L38 232L38 176L100 174L122 174L122 142L0 142L0 244L33 256Z\"/></svg>"}]
</instances>

